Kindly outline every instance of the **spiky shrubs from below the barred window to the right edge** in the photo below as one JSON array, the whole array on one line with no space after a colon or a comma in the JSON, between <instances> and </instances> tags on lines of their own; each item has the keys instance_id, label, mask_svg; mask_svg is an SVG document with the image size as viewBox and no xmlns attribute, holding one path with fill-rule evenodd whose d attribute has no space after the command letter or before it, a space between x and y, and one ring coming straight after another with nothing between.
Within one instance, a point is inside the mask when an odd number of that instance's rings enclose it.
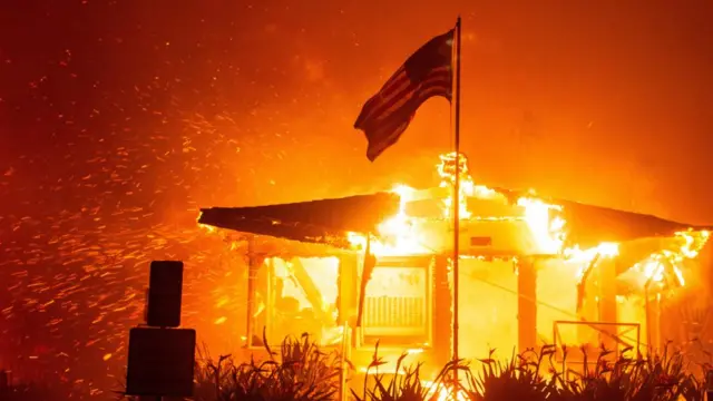
<instances>
[{"instance_id":1,"label":"spiky shrubs from below the barred window to the right edge","mask_svg":"<svg viewBox=\"0 0 713 401\"><path fill-rule=\"evenodd\" d=\"M563 350L563 362L554 360L556 349L543 346L539 351L528 350L512 354L507 362L496 361L494 351L479 360L482 366L470 369L463 361L453 362L439 374L430 388L419 384L419 369L406 370L404 375L395 375L384 382L377 375L375 384L364 389L359 401L410 401L452 399L452 391L445 394L443 387L452 389L449 375L455 370L462 371L465 381L458 389L460 401L697 401L704 399L702 383L686 373L686 363L680 352L671 352L666 346L661 355L645 359L641 354L631 358L631 349L624 350L616 361L609 361L613 353L604 348L596 361L584 361L580 369L567 368L567 350ZM372 364L383 363L374 358ZM547 378L545 376L547 374Z\"/></svg>"}]
</instances>

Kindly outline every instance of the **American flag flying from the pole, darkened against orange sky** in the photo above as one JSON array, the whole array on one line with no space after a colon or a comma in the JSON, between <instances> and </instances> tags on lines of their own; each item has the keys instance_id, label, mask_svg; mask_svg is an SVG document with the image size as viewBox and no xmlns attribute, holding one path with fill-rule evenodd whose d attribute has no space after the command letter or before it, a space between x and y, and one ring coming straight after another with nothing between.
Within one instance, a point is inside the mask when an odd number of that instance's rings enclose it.
<instances>
[{"instance_id":1,"label":"American flag flying from the pole, darkened against orange sky","mask_svg":"<svg viewBox=\"0 0 713 401\"><path fill-rule=\"evenodd\" d=\"M452 96L455 29L418 49L361 109L354 128L367 136L367 157L373 162L395 144L421 105L433 96Z\"/></svg>"}]
</instances>

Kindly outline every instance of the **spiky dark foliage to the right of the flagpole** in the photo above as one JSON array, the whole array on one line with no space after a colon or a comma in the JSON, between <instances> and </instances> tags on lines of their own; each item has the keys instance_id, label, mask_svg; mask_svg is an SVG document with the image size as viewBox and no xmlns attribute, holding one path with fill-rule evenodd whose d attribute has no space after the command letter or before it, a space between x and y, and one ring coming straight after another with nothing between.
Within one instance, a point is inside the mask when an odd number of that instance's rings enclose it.
<instances>
[{"instance_id":1,"label":"spiky dark foliage to the right of the flagpole","mask_svg":"<svg viewBox=\"0 0 713 401\"><path fill-rule=\"evenodd\" d=\"M556 351L549 345L514 355L507 363L484 360L480 372L466 372L462 391L469 400L703 400L703 387L686 373L683 355L667 348L653 359L628 356L628 349L615 361L604 348L595 361L582 350L584 361L576 368L567 365L566 349L556 363Z\"/></svg>"}]
</instances>

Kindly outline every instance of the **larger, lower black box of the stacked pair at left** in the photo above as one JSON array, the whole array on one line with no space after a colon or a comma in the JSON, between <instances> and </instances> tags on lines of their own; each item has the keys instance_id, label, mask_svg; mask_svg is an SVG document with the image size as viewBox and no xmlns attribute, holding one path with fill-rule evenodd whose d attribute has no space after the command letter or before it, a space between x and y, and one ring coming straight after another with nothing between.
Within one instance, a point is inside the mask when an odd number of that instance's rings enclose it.
<instances>
[{"instance_id":1,"label":"larger, lower black box of the stacked pair at left","mask_svg":"<svg viewBox=\"0 0 713 401\"><path fill-rule=\"evenodd\" d=\"M131 329L126 393L192 397L195 350L193 329Z\"/></svg>"}]
</instances>

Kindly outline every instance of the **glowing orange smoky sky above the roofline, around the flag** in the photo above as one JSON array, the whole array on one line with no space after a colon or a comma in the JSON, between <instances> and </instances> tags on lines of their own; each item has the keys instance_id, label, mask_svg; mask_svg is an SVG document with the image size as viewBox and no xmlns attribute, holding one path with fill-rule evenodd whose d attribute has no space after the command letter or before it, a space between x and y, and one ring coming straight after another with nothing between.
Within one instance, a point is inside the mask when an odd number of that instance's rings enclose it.
<instances>
[{"instance_id":1,"label":"glowing orange smoky sky above the roofline, around the flag","mask_svg":"<svg viewBox=\"0 0 713 401\"><path fill-rule=\"evenodd\" d=\"M437 155L450 144L445 100L429 101L398 146L374 164L365 159L365 139L352 125L361 104L406 57L460 12L462 148L477 178L695 223L713 221L703 173L713 128L713 35L706 22L713 11L704 1L686 7L667 1L409 3L408 9L398 0L27 6L18 12L45 12L47 28L66 37L29 35L21 22L4 28L8 37L25 39L7 43L0 67L8 88L0 116L10 120L3 154L32 158L38 150L28 144L41 144L57 130L11 115L16 104L40 114L40 100L28 100L33 82L49 98L46 104L81 97L85 117L75 116L72 138L78 128L94 136L108 124L125 125L123 140L143 140L160 154L156 149L165 141L156 137L180 143L177 130L183 130L195 149L195 156L185 151L187 160L194 172L203 170L203 185L176 196L204 206L341 196L395 180L428 184ZM98 85L104 92L87 97L81 88L52 89L55 72L47 63L64 59L69 69L85 62L91 72L74 79L92 76L96 81L87 79L84 88ZM89 69L88 60L100 72ZM47 76L49 84L42 80ZM119 95L124 99L114 98ZM140 113L129 109L140 106L137 101L170 115L164 117L169 128L130 115ZM87 128L91 109L106 116L109 104L124 107L124 115ZM218 134L192 131L198 113ZM66 110L58 114L67 118ZM18 127L26 131L21 139ZM90 157L96 147L84 150ZM205 170L208 164L215 168ZM11 162L3 166L22 174ZM177 172L154 165L147 172L153 182L165 184L164 175L170 174L174 186L183 185Z\"/></svg>"}]
</instances>

